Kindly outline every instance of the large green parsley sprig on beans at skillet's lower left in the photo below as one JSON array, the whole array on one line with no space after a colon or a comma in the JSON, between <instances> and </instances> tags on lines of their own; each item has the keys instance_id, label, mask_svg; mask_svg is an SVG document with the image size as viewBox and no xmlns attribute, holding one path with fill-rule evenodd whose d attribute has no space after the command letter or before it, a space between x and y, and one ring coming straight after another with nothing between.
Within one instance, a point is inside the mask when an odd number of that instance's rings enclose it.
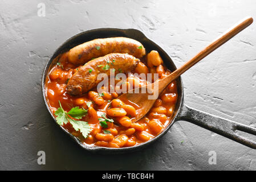
<instances>
[{"instance_id":1,"label":"large green parsley sprig on beans at skillet's lower left","mask_svg":"<svg viewBox=\"0 0 256 182\"><path fill-rule=\"evenodd\" d=\"M91 132L90 125L85 121L75 120L75 119L82 119L82 117L84 117L87 114L87 110L79 109L79 107L76 106L76 107L72 107L72 109L67 113L62 108L60 101L59 101L59 105L60 107L54 113L57 116L56 117L57 123L60 126L62 126L63 124L67 124L68 122L70 122L76 131L80 130L84 138L87 138L88 134ZM75 119L72 119L70 116Z\"/></svg>"}]
</instances>

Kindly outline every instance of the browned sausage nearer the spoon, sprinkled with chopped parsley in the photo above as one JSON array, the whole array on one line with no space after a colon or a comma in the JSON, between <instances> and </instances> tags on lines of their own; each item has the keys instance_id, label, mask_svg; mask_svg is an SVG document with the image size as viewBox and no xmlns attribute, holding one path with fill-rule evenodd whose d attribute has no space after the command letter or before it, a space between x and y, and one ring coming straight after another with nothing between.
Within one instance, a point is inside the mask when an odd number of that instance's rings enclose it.
<instances>
[{"instance_id":1,"label":"browned sausage nearer the spoon, sprinkled with chopped parsley","mask_svg":"<svg viewBox=\"0 0 256 182\"><path fill-rule=\"evenodd\" d=\"M115 69L115 73L128 73L136 68L139 61L127 53L110 53L91 60L72 75L67 84L67 93L72 96L86 93L101 81L97 80L100 73L106 73L109 76L113 69ZM106 67L106 65L108 66Z\"/></svg>"}]
</instances>

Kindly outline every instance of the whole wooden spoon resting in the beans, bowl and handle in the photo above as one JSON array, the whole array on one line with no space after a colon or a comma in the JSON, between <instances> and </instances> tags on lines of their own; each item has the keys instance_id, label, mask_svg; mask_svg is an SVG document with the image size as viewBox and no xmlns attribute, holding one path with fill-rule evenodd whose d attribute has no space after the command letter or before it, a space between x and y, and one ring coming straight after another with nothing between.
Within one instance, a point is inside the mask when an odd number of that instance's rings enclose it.
<instances>
[{"instance_id":1,"label":"whole wooden spoon resting in the beans, bowl and handle","mask_svg":"<svg viewBox=\"0 0 256 182\"><path fill-rule=\"evenodd\" d=\"M188 62L186 62L184 65L182 65L180 68L176 69L176 71L172 72L169 76L158 80L156 82L153 82L152 84L149 84L147 86L143 86L141 88L136 88L133 90L129 90L128 93L122 94L120 97L118 97L123 102L129 102L133 105L137 105L139 109L137 109L137 115L135 118L132 119L132 122L136 122L142 117L144 117L145 114L148 113L148 111L151 109L153 104L155 103L158 95L166 88L167 85L170 84L173 80L175 80L177 77L179 77L182 73L187 71L189 68L191 68L194 64L196 64L198 61L202 60L205 56L209 55L211 52L213 52L218 47L222 46L222 44L226 43L227 40L233 38L233 36L237 35L239 32L241 32L243 29L245 29L247 26L249 26L251 23L253 23L253 18L245 18L241 20L241 22L235 24L233 27L231 27L229 30L227 30L224 34L222 34L219 38L214 40L212 43L209 44L206 48L202 49L201 52L197 53L196 56L194 56L192 59L190 59ZM145 88L149 89L149 92L141 93L141 90L145 90ZM152 89L150 89L152 88ZM158 93L157 97L154 99L149 98L149 96L152 97L153 93Z\"/></svg>"}]
</instances>

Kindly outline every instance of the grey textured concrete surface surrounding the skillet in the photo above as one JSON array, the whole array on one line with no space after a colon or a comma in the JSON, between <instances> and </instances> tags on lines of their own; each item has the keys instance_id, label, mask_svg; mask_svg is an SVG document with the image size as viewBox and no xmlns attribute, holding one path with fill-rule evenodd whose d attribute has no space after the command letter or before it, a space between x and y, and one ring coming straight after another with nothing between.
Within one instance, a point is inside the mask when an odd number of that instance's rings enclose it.
<instances>
[{"instance_id":1,"label":"grey textured concrete surface surrounding the skillet","mask_svg":"<svg viewBox=\"0 0 256 182\"><path fill-rule=\"evenodd\" d=\"M45 3L45 17L37 15L38 3ZM254 0L2 0L0 169L255 170L255 150L185 121L175 123L143 151L90 154L56 126L40 93L46 61L81 31L137 28L164 48L178 67L247 15L256 20ZM256 127L255 35L254 22L184 73L185 103ZM46 152L44 166L37 163L39 150ZM209 151L216 151L216 165L208 164Z\"/></svg>"}]
</instances>

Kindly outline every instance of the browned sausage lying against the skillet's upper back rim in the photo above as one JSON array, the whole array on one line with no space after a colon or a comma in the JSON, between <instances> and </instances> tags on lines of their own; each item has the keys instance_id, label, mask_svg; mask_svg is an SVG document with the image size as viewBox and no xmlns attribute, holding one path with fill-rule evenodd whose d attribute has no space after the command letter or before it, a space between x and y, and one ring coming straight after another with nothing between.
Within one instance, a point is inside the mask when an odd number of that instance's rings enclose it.
<instances>
[{"instance_id":1,"label":"browned sausage lying against the skillet's upper back rim","mask_svg":"<svg viewBox=\"0 0 256 182\"><path fill-rule=\"evenodd\" d=\"M128 53L139 59L146 54L144 46L137 40L116 37L94 39L80 44L70 49L68 61L76 65L84 64L93 58L101 57L108 53Z\"/></svg>"}]
</instances>

